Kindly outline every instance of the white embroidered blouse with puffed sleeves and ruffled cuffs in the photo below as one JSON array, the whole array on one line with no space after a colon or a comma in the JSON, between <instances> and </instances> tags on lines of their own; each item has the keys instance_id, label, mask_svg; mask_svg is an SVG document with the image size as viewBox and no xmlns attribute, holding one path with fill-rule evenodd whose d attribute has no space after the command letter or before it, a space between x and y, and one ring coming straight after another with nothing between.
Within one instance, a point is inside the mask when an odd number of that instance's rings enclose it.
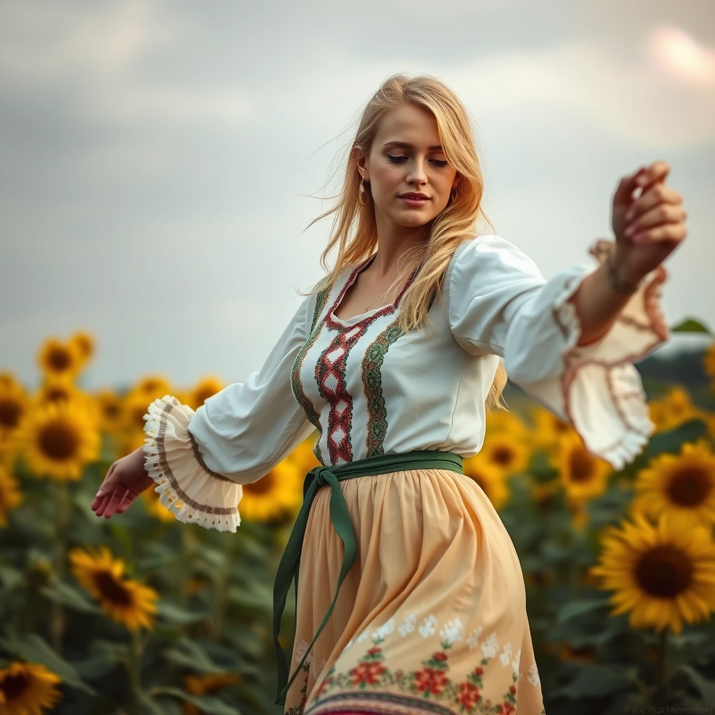
<instances>
[{"instance_id":1,"label":"white embroidered blouse with puffed sleeves and ruffled cuffs","mask_svg":"<svg viewBox=\"0 0 715 715\"><path fill-rule=\"evenodd\" d=\"M611 242L591 255L601 262ZM621 468L654 430L633 363L668 337L659 310L666 271L641 283L611 330L583 347L568 302L592 267L544 280L498 235L468 240L445 272L432 327L407 334L400 298L335 317L373 257L332 290L302 301L260 370L195 412L172 395L149 405L147 472L180 520L220 531L240 524L242 484L260 479L317 430L315 453L337 465L383 453L445 450L470 457L485 435L485 399L503 358L511 380L573 425L591 453ZM239 505L240 506L240 505Z\"/></svg>"}]
</instances>

